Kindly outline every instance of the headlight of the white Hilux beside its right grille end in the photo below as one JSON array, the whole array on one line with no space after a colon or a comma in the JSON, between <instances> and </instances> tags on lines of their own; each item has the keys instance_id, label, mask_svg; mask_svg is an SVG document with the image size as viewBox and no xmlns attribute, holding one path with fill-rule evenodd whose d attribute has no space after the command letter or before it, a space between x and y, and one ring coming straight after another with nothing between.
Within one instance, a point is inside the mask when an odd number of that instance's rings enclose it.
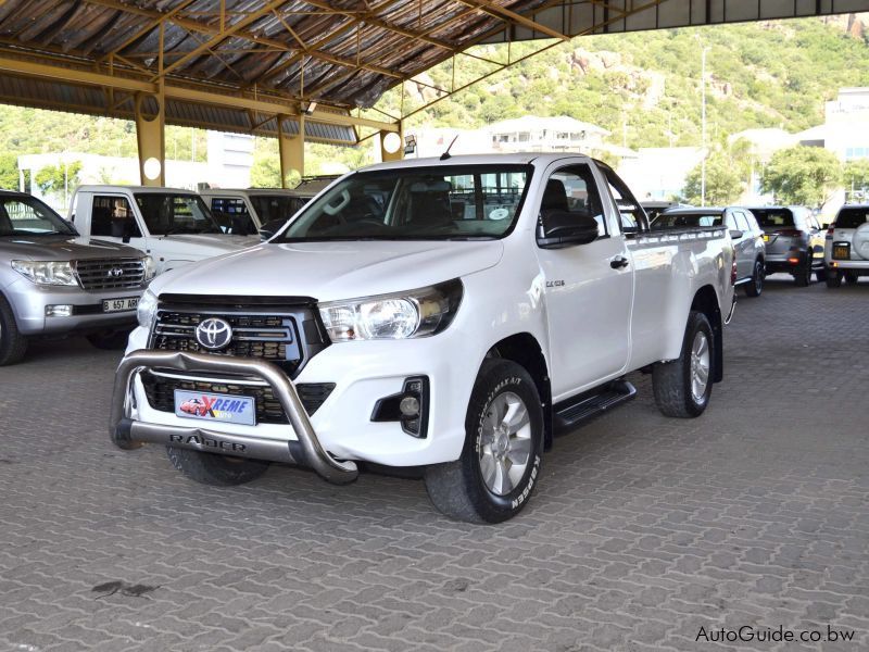
<instances>
[{"instance_id":1,"label":"headlight of the white Hilux beside its right grille end","mask_svg":"<svg viewBox=\"0 0 869 652\"><path fill-rule=\"evenodd\" d=\"M462 281L454 279L395 294L322 303L319 315L333 342L425 337L450 325L462 292Z\"/></svg>"}]
</instances>

